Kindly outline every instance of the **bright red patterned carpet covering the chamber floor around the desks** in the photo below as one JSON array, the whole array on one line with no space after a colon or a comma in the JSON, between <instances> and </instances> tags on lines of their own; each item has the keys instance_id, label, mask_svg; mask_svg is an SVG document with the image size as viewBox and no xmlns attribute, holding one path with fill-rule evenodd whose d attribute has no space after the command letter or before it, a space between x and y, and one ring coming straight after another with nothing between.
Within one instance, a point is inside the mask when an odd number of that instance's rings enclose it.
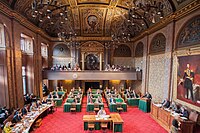
<instances>
[{"instance_id":1,"label":"bright red patterned carpet covering the chamber floor around the desks","mask_svg":"<svg viewBox=\"0 0 200 133\"><path fill-rule=\"evenodd\" d=\"M103 99L106 105L105 99ZM107 114L110 114L106 105ZM49 114L42 120L42 125L34 131L34 133L86 133L83 130L83 115L86 112L86 97L83 99L82 112L79 113L64 113L63 108L57 108L53 114ZM138 108L128 107L128 112L120 114L124 120L124 133L167 133L159 124L157 124L149 113L143 113ZM94 131L101 133L102 131ZM107 130L107 133L112 133Z\"/></svg>"}]
</instances>

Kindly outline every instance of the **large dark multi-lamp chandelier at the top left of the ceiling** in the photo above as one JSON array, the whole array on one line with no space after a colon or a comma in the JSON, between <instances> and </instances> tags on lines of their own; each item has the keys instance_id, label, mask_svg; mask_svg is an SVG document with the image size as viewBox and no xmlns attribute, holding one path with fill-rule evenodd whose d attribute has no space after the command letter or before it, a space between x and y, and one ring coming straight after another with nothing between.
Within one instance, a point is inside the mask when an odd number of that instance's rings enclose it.
<instances>
[{"instance_id":1,"label":"large dark multi-lamp chandelier at the top left of the ceiling","mask_svg":"<svg viewBox=\"0 0 200 133\"><path fill-rule=\"evenodd\" d=\"M34 0L32 3L32 17L38 18L39 22L50 20L51 24L59 19L61 23L68 20L67 5L58 0Z\"/></svg>"}]
</instances>

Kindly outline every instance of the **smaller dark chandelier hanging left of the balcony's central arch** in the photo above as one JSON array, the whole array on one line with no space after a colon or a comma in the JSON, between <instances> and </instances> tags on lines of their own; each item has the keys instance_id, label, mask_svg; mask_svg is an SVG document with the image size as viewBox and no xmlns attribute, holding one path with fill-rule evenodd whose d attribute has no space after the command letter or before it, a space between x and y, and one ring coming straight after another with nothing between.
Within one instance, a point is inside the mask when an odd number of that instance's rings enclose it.
<instances>
[{"instance_id":1,"label":"smaller dark chandelier hanging left of the balcony's central arch","mask_svg":"<svg viewBox=\"0 0 200 133\"><path fill-rule=\"evenodd\" d=\"M67 44L67 47L69 49L75 48L75 49L79 49L81 47L80 43L77 42L77 34L74 32L59 32L58 33L58 37L60 39L60 41L63 41Z\"/></svg>"}]
</instances>

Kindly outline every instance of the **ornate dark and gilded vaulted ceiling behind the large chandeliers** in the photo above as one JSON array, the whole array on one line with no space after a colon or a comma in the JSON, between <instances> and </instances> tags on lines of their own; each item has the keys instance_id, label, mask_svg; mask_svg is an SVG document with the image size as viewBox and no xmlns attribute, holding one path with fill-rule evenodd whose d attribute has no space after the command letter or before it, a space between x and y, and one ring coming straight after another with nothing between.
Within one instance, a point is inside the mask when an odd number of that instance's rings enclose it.
<instances>
[{"instance_id":1,"label":"ornate dark and gilded vaulted ceiling behind the large chandeliers","mask_svg":"<svg viewBox=\"0 0 200 133\"><path fill-rule=\"evenodd\" d=\"M12 9L24 15L28 20L56 37L58 32L74 30L78 36L111 36L112 33L130 32L131 37L152 26L152 16L135 20L134 25L128 24L128 9L131 0L60 0L68 6L68 21L61 23L59 19L54 24L48 19L42 23L31 15L33 0L2 0ZM59 1L59 0L58 0ZM134 0L135 3L144 0ZM164 5L164 17L174 12L179 6L189 0L156 0ZM141 15L140 12L137 12ZM160 18L155 18L159 22Z\"/></svg>"}]
</instances>

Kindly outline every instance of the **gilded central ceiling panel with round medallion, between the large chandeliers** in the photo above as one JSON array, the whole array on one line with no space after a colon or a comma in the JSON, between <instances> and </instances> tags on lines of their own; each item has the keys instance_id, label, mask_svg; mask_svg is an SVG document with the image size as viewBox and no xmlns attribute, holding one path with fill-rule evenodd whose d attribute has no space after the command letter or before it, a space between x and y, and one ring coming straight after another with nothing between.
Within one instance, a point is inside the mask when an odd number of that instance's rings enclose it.
<instances>
[{"instance_id":1,"label":"gilded central ceiling panel with round medallion, between the large chandeliers","mask_svg":"<svg viewBox=\"0 0 200 133\"><path fill-rule=\"evenodd\" d=\"M105 14L104 7L80 7L81 35L103 36Z\"/></svg>"}]
</instances>

